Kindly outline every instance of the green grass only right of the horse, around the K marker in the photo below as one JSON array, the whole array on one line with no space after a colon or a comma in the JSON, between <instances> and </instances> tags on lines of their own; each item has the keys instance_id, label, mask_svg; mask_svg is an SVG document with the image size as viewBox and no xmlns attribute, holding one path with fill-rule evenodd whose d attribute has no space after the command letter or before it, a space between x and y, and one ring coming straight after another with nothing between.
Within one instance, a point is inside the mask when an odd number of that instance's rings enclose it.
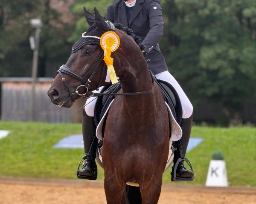
<instances>
[{"instance_id":1,"label":"green grass only right of the horse, around the K marker","mask_svg":"<svg viewBox=\"0 0 256 204\"><path fill-rule=\"evenodd\" d=\"M256 128L253 127L199 127L192 128L191 136L204 141L186 154L195 171L190 184L205 184L212 153L220 150L224 154L227 176L232 186L256 186ZM164 173L164 182L169 182Z\"/></svg>"}]
</instances>

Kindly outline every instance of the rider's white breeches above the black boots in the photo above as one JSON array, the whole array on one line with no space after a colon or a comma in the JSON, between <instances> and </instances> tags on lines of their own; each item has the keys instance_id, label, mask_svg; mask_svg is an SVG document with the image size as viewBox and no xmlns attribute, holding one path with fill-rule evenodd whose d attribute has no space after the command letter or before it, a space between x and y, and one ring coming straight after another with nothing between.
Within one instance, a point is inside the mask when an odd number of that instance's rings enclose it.
<instances>
[{"instance_id":1,"label":"rider's white breeches above the black boots","mask_svg":"<svg viewBox=\"0 0 256 204\"><path fill-rule=\"evenodd\" d=\"M193 106L191 102L189 101L188 97L176 81L174 77L172 77L172 74L170 74L169 71L163 71L160 72L159 74L155 75L157 79L163 80L171 84L175 90L177 91L179 97L180 97L180 102L182 106L182 118L189 118L192 113L193 113ZM99 91L93 91L96 93L99 93L102 90L103 86L99 88ZM85 112L88 116L94 116L94 108L96 105L97 98L96 97L91 97L87 99L86 104L85 104Z\"/></svg>"}]
</instances>

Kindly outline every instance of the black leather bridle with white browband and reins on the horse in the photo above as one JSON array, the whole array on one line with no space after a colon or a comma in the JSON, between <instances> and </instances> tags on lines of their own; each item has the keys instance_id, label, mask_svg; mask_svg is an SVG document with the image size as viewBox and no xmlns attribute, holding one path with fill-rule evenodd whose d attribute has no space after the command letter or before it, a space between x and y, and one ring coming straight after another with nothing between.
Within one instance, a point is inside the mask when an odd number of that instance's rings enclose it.
<instances>
[{"instance_id":1,"label":"black leather bridle with white browband and reins on the horse","mask_svg":"<svg viewBox=\"0 0 256 204\"><path fill-rule=\"evenodd\" d=\"M115 31L115 26L113 25L113 23L111 23L110 21L106 21L106 23L108 24L109 28L111 31ZM100 37L97 36L86 36L84 33L82 34L82 37L91 37L91 38L96 38L97 40L100 40ZM141 95L141 94L150 94L154 91L154 81L153 81L153 88L151 90L148 91L140 91L140 92L130 92L130 93L122 93L122 94L113 94L113 93L94 93L92 91L89 91L89 86L90 86L90 82L93 79L93 76L95 75L95 73L97 72L100 64L102 63L104 58L104 51L102 51L99 56L97 57L97 59L95 60L95 62L93 63L93 65L90 67L90 69L87 71L87 73L81 77L80 74L76 73L75 71L73 71L72 69L70 69L67 65L61 65L61 67L58 69L57 74L60 74L62 81L64 82L64 85L69 93L69 95L71 96L73 102L76 100L74 94L78 94L79 96L84 96L87 98L90 98L90 96L131 96L131 95ZM88 75L90 74L90 72L92 71L92 74L90 75L90 77L86 80L86 78L88 77ZM107 74L107 69L106 69L106 64L104 63L103 68L102 68L102 76L101 79L99 81L99 84L97 86L97 88L101 85L102 80L104 79L105 73ZM78 86L76 88L75 92L72 92L66 78L63 76L63 74L67 74L77 80L79 80L82 85ZM153 79L153 78L152 78ZM79 94L79 88L84 87L86 89L85 94Z\"/></svg>"}]
</instances>

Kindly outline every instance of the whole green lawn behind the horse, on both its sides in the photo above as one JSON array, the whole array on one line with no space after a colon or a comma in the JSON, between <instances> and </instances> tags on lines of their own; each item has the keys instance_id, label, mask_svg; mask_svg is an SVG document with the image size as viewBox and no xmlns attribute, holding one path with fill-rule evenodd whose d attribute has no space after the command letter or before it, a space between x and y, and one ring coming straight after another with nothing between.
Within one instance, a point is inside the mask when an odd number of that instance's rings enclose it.
<instances>
[{"instance_id":1,"label":"whole green lawn behind the horse, on both its sides","mask_svg":"<svg viewBox=\"0 0 256 204\"><path fill-rule=\"evenodd\" d=\"M81 124L0 122L0 130L11 130L0 139L1 177L76 178L83 150L52 146L67 135L81 133ZM212 152L220 150L230 185L256 186L256 128L195 126L193 136L204 141L186 155L195 171L194 181L186 183L205 184ZM164 183L171 182L170 171L164 173ZM103 177L99 168L98 179Z\"/></svg>"}]
</instances>

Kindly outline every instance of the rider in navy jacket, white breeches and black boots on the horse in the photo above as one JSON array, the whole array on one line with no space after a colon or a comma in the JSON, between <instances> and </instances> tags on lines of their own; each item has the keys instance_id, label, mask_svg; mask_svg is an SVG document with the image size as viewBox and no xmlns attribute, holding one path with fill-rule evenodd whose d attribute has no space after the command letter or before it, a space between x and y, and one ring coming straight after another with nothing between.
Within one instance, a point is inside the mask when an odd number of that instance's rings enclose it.
<instances>
[{"instance_id":1,"label":"rider in navy jacket, white breeches and black boots on the horse","mask_svg":"<svg viewBox=\"0 0 256 204\"><path fill-rule=\"evenodd\" d=\"M158 45L158 41L163 35L163 16L160 1L118 0L108 6L106 20L109 20L112 23L121 23L124 27L131 28L134 31L134 34L140 36L142 44L145 45L143 54L147 55L147 58L149 59L148 68L155 74L157 79L169 82L177 91L182 105L181 129L183 135L180 142L185 154L192 127L193 107L178 82L169 73L165 59ZM102 87L96 92L100 92L101 90ZM82 169L79 170L79 175L90 180L95 180L97 178L95 158L98 142L97 139L93 140L96 133L96 125L93 118L95 104L95 99L87 99L82 119L84 152L87 155L87 159L84 162ZM173 161L174 165L179 158L180 152L179 150L176 150ZM172 167L171 173L172 180L173 170L174 167ZM183 163L180 162L177 167L177 176L191 178L193 177L193 173L190 170L186 170Z\"/></svg>"}]
</instances>

